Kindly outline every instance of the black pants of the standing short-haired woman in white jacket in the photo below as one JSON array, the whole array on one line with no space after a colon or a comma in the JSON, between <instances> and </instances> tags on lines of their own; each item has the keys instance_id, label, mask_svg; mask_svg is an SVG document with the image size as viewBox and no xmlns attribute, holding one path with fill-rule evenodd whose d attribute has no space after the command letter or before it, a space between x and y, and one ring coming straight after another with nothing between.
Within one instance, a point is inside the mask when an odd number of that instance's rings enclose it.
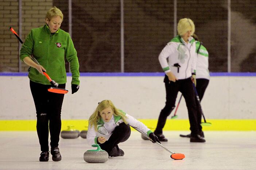
<instances>
[{"instance_id":1,"label":"black pants of the standing short-haired woman in white jacket","mask_svg":"<svg viewBox=\"0 0 256 170\"><path fill-rule=\"evenodd\" d=\"M160 112L155 134L163 133L166 119L171 114L171 111L175 108L175 101L179 91L183 94L183 97L186 101L186 106L189 113L191 135L195 136L199 134L199 132L202 130L202 126L201 121L198 122L198 116L201 113L197 112L197 103L195 101L195 93L191 78L186 78L173 82L169 81L168 77L166 76L164 78L164 82L166 89L166 104Z\"/></svg>"}]
</instances>

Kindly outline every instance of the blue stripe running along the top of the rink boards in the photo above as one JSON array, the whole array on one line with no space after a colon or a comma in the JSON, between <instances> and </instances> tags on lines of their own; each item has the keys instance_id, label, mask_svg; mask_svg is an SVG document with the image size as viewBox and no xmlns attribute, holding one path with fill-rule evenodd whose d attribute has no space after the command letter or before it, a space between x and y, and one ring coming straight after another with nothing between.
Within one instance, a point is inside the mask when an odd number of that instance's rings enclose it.
<instances>
[{"instance_id":1,"label":"blue stripe running along the top of the rink boards","mask_svg":"<svg viewBox=\"0 0 256 170\"><path fill-rule=\"evenodd\" d=\"M0 76L27 76L27 72L0 72ZM71 73L67 73L67 76L71 76ZM130 76L130 77L137 77L137 76L164 76L163 72L139 72L139 73L80 73L80 76L92 76L92 77L97 77L97 76L103 76L103 77L124 77L124 76ZM256 72L250 73L250 72L233 72L233 73L228 73L228 72L210 72L211 77L216 77L216 76L238 76L238 77L255 77Z\"/></svg>"}]
</instances>

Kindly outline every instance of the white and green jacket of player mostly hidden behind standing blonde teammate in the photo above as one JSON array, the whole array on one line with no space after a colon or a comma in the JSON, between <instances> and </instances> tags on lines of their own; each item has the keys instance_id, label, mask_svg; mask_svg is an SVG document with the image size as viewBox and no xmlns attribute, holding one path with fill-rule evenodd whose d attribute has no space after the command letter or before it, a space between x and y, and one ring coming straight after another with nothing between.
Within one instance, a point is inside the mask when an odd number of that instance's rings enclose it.
<instances>
[{"instance_id":1,"label":"white and green jacket of player mostly hidden behind standing blonde teammate","mask_svg":"<svg viewBox=\"0 0 256 170\"><path fill-rule=\"evenodd\" d=\"M210 73L208 69L209 67L208 51L202 44L200 45L199 41L195 41L195 45L196 45L196 52L197 52L197 76L196 77L210 80Z\"/></svg>"}]
</instances>

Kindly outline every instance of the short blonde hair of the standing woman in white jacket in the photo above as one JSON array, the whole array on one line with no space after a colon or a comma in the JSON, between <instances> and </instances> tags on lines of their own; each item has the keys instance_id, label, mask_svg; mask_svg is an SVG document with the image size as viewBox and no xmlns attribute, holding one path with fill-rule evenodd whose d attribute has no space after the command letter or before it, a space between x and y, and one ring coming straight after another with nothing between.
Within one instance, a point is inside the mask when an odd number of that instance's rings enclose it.
<instances>
[{"instance_id":1,"label":"short blonde hair of the standing woman in white jacket","mask_svg":"<svg viewBox=\"0 0 256 170\"><path fill-rule=\"evenodd\" d=\"M195 32L195 25L194 22L189 19L189 18L183 18L179 20L178 26L177 26L177 31L178 35L184 35L187 31L192 31L191 36Z\"/></svg>"}]
</instances>

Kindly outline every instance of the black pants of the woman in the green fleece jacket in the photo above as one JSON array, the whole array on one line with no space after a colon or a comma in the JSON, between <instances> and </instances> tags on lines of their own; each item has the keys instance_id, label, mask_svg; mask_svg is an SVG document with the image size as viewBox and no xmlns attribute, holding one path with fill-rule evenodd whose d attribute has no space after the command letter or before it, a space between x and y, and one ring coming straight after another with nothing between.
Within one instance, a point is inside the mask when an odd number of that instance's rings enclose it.
<instances>
[{"instance_id":1,"label":"black pants of the woman in the green fleece jacket","mask_svg":"<svg viewBox=\"0 0 256 170\"><path fill-rule=\"evenodd\" d=\"M59 84L58 88L65 89L66 84ZM61 108L64 94L48 92L51 85L43 85L30 81L30 90L36 108L36 130L41 146L41 151L49 151L50 146L58 147L59 134L61 133Z\"/></svg>"}]
</instances>

